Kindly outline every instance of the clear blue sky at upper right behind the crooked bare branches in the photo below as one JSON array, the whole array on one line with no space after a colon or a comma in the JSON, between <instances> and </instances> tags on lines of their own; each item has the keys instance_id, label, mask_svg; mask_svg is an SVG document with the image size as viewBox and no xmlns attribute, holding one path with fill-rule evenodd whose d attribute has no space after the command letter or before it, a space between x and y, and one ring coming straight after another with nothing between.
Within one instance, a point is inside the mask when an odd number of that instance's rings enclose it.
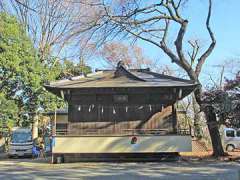
<instances>
[{"instance_id":1,"label":"clear blue sky at upper right behind the crooked bare branches","mask_svg":"<svg viewBox=\"0 0 240 180\"><path fill-rule=\"evenodd\" d=\"M189 20L185 42L188 39L200 39L203 43L203 50L210 43L209 34L206 30L205 21L207 16L207 0L190 0L183 13ZM222 65L225 65L227 78L232 78L233 74L228 73L232 66L228 65L229 60L240 59L240 0L213 0L211 17L211 28L217 40L216 47L203 66L200 81L205 86L212 84L211 79L218 81ZM175 37L173 32L172 36ZM176 70L170 59L158 48L144 41L138 41L138 45L143 48L144 54L159 62L159 65L168 65ZM93 68L101 67L101 64L90 64ZM220 65L220 66L219 66ZM240 63L238 64L240 65ZM234 71L240 67L234 66ZM211 78L210 78L211 76Z\"/></svg>"}]
</instances>

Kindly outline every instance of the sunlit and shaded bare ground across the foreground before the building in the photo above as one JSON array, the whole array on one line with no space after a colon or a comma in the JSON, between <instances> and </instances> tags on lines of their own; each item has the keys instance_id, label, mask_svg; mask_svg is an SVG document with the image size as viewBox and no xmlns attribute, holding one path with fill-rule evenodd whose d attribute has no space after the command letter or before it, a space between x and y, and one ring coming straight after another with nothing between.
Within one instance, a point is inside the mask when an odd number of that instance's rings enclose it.
<instances>
[{"instance_id":1,"label":"sunlit and shaded bare ground across the foreground before the building","mask_svg":"<svg viewBox=\"0 0 240 180\"><path fill-rule=\"evenodd\" d=\"M240 164L216 160L49 164L44 159L2 159L0 179L238 180Z\"/></svg>"}]
</instances>

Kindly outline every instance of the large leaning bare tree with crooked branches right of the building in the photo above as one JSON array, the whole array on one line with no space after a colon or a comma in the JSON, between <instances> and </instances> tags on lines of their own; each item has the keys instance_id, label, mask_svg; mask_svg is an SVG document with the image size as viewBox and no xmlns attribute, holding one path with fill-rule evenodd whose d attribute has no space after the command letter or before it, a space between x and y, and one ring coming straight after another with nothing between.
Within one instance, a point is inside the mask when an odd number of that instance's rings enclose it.
<instances>
[{"instance_id":1,"label":"large leaning bare tree with crooked branches right of the building","mask_svg":"<svg viewBox=\"0 0 240 180\"><path fill-rule=\"evenodd\" d=\"M202 53L199 51L198 41L188 41L187 44L184 41L189 24L188 19L182 15L183 5L188 3L186 0L160 0L156 3L136 0L102 0L94 1L94 3L86 3L86 1L81 3L91 7L98 6L98 10L101 11L95 25L95 33L101 38L99 42L119 35L148 42L162 50L172 63L184 69L189 78L199 84L194 94L196 102L206 115L214 155L224 155L216 115L211 105L202 101L202 87L199 81L202 67L216 45L216 39L210 27L212 0L208 0L205 23L211 42ZM171 46L168 40L169 31L173 26L178 27L178 30L174 44ZM187 45L186 55L184 47ZM190 48L192 48L191 51L189 51Z\"/></svg>"}]
</instances>

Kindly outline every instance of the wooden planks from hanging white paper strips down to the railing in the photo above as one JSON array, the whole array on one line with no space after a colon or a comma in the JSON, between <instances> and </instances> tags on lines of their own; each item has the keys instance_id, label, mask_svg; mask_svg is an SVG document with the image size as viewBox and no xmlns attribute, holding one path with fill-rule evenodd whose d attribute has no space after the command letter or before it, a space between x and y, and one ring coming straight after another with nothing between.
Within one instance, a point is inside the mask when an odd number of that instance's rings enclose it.
<instances>
[{"instance_id":1,"label":"wooden planks from hanging white paper strips down to the railing","mask_svg":"<svg viewBox=\"0 0 240 180\"><path fill-rule=\"evenodd\" d=\"M162 129L166 133L173 131L172 106L132 105L126 108L81 105L73 107L73 110L68 125L69 135L131 134L135 132L134 129Z\"/></svg>"}]
</instances>

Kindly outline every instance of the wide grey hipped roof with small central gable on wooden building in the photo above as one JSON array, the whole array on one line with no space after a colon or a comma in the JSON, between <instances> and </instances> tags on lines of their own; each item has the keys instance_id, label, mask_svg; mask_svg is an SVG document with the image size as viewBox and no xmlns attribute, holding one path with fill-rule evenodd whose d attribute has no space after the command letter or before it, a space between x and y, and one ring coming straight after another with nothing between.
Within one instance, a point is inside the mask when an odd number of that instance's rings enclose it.
<instances>
[{"instance_id":1,"label":"wide grey hipped roof with small central gable on wooden building","mask_svg":"<svg viewBox=\"0 0 240 180\"><path fill-rule=\"evenodd\" d=\"M151 72L149 69L126 69L122 64L116 70L103 70L86 76L59 80L45 85L47 89L82 89L113 87L193 87L191 80Z\"/></svg>"}]
</instances>

